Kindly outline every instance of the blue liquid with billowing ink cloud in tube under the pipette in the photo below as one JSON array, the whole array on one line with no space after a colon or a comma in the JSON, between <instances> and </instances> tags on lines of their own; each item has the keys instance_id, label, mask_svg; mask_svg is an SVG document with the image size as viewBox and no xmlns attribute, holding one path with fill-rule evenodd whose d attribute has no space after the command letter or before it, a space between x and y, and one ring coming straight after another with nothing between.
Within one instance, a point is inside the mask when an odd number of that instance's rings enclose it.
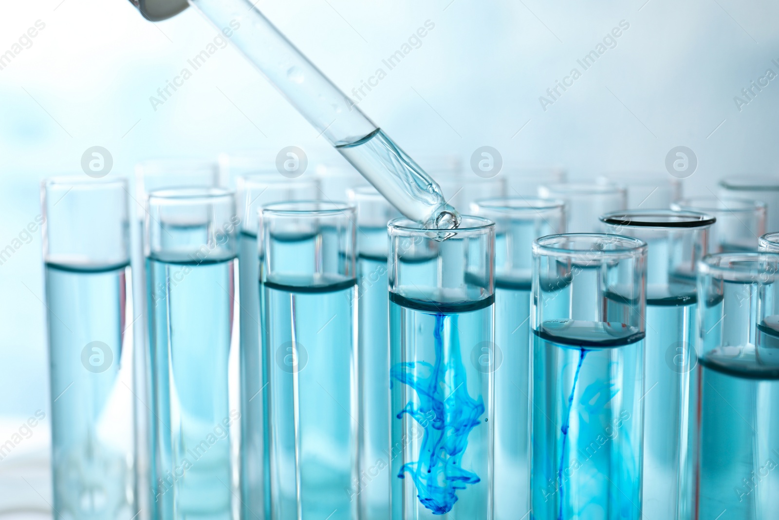
<instances>
[{"instance_id":1,"label":"blue liquid with billowing ink cloud in tube under the pipette","mask_svg":"<svg viewBox=\"0 0 779 520\"><path fill-rule=\"evenodd\" d=\"M493 302L390 293L394 520L492 517Z\"/></svg>"}]
</instances>

